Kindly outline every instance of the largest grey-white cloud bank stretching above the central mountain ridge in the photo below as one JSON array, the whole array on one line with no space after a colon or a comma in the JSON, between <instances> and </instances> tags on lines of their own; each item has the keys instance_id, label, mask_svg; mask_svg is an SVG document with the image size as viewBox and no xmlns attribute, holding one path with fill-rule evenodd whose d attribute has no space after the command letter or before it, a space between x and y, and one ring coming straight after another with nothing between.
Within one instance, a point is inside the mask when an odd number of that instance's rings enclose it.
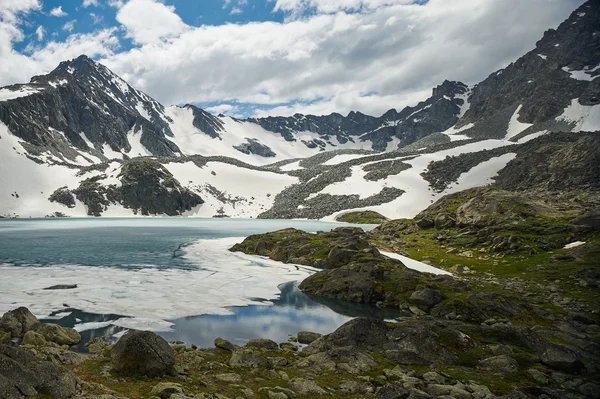
<instances>
[{"instance_id":1,"label":"largest grey-white cloud bank stretching above the central mountain ridge","mask_svg":"<svg viewBox=\"0 0 600 399\"><path fill-rule=\"evenodd\" d=\"M580 3L431 0L286 23L201 26L105 62L167 104L381 114L414 104L444 79L480 81L532 49ZM290 102L297 104L266 111Z\"/></svg>"}]
</instances>

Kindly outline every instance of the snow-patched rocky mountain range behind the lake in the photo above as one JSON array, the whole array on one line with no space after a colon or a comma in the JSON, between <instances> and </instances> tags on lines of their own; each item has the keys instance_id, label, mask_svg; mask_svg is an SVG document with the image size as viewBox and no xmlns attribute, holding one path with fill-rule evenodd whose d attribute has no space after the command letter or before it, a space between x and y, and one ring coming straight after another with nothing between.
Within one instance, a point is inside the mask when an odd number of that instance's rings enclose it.
<instances>
[{"instance_id":1,"label":"snow-patched rocky mountain range behind the lake","mask_svg":"<svg viewBox=\"0 0 600 399\"><path fill-rule=\"evenodd\" d=\"M579 169L563 169L590 181L596 142L569 143L600 130L598 21L600 1L588 1L482 82L445 81L380 117L165 107L80 56L0 89L0 215L413 217L498 174L503 189L537 190L540 179L556 189L572 180L559 170L569 159ZM528 161L543 151L558 151L554 166Z\"/></svg>"}]
</instances>

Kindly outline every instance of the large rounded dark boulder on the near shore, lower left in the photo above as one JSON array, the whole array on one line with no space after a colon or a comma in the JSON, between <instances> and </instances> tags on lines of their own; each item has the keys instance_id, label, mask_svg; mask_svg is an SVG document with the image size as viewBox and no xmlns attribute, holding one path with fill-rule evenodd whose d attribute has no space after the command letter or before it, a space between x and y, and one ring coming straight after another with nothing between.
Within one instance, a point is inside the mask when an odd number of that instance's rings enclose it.
<instances>
[{"instance_id":1,"label":"large rounded dark boulder on the near shore, lower left","mask_svg":"<svg viewBox=\"0 0 600 399\"><path fill-rule=\"evenodd\" d=\"M175 354L167 341L150 331L125 334L111 350L115 371L148 377L175 375Z\"/></svg>"}]
</instances>

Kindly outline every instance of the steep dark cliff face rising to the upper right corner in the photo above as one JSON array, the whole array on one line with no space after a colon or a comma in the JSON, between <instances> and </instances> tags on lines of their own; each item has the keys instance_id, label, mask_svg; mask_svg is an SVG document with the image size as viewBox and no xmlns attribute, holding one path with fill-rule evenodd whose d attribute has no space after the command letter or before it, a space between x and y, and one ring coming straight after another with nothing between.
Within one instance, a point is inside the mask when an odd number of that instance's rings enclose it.
<instances>
[{"instance_id":1,"label":"steep dark cliff face rising to the upper right corner","mask_svg":"<svg viewBox=\"0 0 600 399\"><path fill-rule=\"evenodd\" d=\"M473 88L471 108L461 124L477 123L518 104L521 122L540 123L562 114L573 99L595 105L600 79L580 80L569 71L590 70L600 64L600 1L575 10L558 29L548 30L536 48L505 69L492 73ZM589 77L600 70L589 72Z\"/></svg>"}]
</instances>

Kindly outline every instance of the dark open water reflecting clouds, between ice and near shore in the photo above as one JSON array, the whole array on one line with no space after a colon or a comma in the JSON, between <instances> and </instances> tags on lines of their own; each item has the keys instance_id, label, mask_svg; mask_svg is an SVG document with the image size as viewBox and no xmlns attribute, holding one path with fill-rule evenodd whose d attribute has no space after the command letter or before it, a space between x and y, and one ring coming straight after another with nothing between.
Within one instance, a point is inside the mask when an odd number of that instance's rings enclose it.
<instances>
[{"instance_id":1,"label":"dark open water reflecting clouds, between ice and near shore","mask_svg":"<svg viewBox=\"0 0 600 399\"><path fill-rule=\"evenodd\" d=\"M368 305L311 298L302 293L297 283L279 286L280 298L271 306L245 306L227 308L231 313L224 315L200 315L173 320L173 330L158 332L167 341L179 340L198 347L213 346L216 337L223 337L235 344L243 345L252 338L268 338L285 342L299 331L328 334L354 317L393 318L397 312L384 311ZM78 310L59 320L65 327L82 323L108 323L118 315L94 315ZM102 325L102 324L100 324ZM94 337L110 337L122 331L120 327L104 325L101 328L83 331L82 342Z\"/></svg>"}]
</instances>

